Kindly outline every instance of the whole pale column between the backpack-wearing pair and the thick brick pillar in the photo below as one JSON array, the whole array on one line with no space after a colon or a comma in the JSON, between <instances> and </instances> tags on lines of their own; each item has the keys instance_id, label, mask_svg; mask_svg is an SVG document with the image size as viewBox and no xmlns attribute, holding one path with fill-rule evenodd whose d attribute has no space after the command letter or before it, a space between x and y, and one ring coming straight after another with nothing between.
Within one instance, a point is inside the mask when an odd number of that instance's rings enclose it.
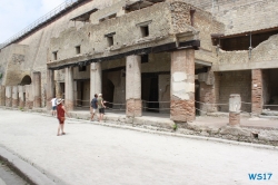
<instances>
[{"instance_id":1,"label":"whole pale column between the backpack-wearing pair and the thick brick pillar","mask_svg":"<svg viewBox=\"0 0 278 185\"><path fill-rule=\"evenodd\" d=\"M142 116L141 100L141 57L128 56L126 65L126 115Z\"/></svg>"}]
</instances>

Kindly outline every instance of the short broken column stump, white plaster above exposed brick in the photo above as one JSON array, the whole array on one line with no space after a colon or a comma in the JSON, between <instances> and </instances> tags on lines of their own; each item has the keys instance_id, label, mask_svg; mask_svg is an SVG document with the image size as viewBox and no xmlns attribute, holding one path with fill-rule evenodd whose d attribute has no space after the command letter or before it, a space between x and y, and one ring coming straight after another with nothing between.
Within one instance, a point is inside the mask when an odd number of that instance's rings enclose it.
<instances>
[{"instance_id":1,"label":"short broken column stump, white plaster above exposed brick","mask_svg":"<svg viewBox=\"0 0 278 185\"><path fill-rule=\"evenodd\" d=\"M240 124L240 95L231 94L229 98L229 125L236 126Z\"/></svg>"}]
</instances>

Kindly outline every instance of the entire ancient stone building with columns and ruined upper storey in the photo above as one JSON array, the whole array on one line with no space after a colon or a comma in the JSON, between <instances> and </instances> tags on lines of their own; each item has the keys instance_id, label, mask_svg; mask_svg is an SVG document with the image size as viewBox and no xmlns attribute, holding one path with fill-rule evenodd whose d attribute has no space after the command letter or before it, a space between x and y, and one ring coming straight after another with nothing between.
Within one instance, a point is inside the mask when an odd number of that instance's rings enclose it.
<instances>
[{"instance_id":1,"label":"entire ancient stone building with columns and ruined upper storey","mask_svg":"<svg viewBox=\"0 0 278 185\"><path fill-rule=\"evenodd\" d=\"M1 46L0 106L70 110L102 93L128 117L190 121L278 104L277 0L70 0ZM247 103L247 104L246 104ZM200 111L199 111L200 110Z\"/></svg>"}]
</instances>

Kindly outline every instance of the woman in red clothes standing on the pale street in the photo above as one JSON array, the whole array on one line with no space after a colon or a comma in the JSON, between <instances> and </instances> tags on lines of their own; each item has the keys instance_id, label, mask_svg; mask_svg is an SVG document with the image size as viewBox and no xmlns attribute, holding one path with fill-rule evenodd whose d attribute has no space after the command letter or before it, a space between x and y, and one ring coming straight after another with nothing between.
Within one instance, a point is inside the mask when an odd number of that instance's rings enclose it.
<instances>
[{"instance_id":1,"label":"woman in red clothes standing on the pale street","mask_svg":"<svg viewBox=\"0 0 278 185\"><path fill-rule=\"evenodd\" d=\"M57 136L61 136L64 135L66 133L63 132L63 125L64 125L64 113L69 116L68 111L66 110L64 106L63 106L63 99L59 98L57 99L57 118L59 120L59 127L58 127L58 134ZM62 132L60 134L60 130Z\"/></svg>"}]
</instances>

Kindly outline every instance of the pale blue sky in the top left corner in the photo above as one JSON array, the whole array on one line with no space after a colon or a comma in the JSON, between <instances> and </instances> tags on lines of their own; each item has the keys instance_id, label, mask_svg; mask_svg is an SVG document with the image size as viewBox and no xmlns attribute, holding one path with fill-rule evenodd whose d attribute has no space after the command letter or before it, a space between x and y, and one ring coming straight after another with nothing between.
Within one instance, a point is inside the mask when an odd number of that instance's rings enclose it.
<instances>
[{"instance_id":1,"label":"pale blue sky in the top left corner","mask_svg":"<svg viewBox=\"0 0 278 185\"><path fill-rule=\"evenodd\" d=\"M0 0L0 43L66 0Z\"/></svg>"}]
</instances>

